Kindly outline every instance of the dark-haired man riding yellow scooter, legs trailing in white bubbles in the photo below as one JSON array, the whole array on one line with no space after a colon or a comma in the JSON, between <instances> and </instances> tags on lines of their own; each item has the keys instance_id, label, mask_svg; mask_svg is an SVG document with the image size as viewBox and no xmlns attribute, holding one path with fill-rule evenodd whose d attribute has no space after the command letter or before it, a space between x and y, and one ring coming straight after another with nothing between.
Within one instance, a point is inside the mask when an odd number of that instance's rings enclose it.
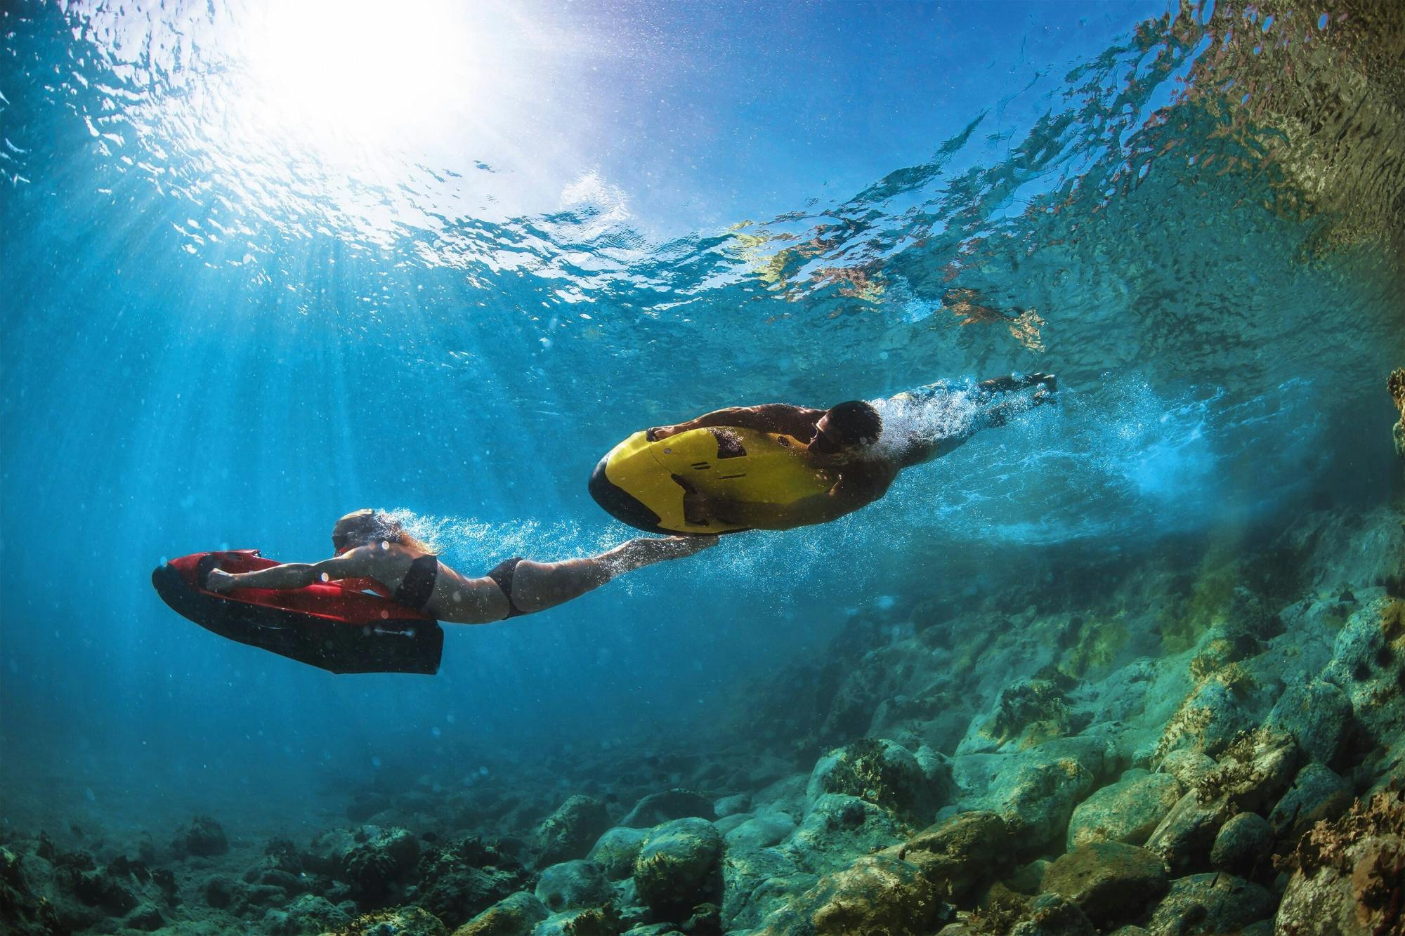
<instances>
[{"instance_id":1,"label":"dark-haired man riding yellow scooter, legs trailing in white bubbles","mask_svg":"<svg viewBox=\"0 0 1405 936\"><path fill-rule=\"evenodd\" d=\"M1034 386L1040 389L1033 396L1017 395ZM878 500L903 468L946 455L981 429L1003 426L1016 412L1055 402L1057 391L1052 374L999 377L974 386L940 381L877 406L849 401L830 409L788 403L718 409L676 426L656 426L646 437L653 443L694 429L733 427L794 438L802 446L795 454L828 489L790 502L747 502L707 493L674 476L684 485L688 524L790 530L828 523Z\"/></svg>"}]
</instances>

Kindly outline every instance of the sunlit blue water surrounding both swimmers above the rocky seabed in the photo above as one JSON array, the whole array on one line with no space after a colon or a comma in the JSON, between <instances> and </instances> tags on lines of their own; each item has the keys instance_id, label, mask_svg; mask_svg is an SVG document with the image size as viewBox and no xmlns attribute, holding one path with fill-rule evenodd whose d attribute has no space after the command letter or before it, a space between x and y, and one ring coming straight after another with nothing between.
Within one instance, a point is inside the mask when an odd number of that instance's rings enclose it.
<instances>
[{"instance_id":1,"label":"sunlit blue water surrounding both swimmers above the rocky seabed","mask_svg":"<svg viewBox=\"0 0 1405 936\"><path fill-rule=\"evenodd\" d=\"M1399 493L1399 240L1287 204L1272 114L1197 98L1205 11L278 10L0 20L7 822L316 828L337 783L677 745L853 614ZM450 627L436 677L222 641L148 579L325 558L364 506L465 572L580 555L632 533L586 479L638 427L1034 370L1058 412Z\"/></svg>"}]
</instances>

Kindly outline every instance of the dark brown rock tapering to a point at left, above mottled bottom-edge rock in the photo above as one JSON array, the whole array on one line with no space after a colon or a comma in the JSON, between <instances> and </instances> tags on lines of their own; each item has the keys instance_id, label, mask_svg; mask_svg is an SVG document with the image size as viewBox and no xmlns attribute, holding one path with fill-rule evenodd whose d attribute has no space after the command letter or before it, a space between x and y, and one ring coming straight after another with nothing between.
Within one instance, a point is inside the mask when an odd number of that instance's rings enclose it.
<instances>
[{"instance_id":1,"label":"dark brown rock tapering to a point at left, above mottled bottom-edge rock","mask_svg":"<svg viewBox=\"0 0 1405 936\"><path fill-rule=\"evenodd\" d=\"M912 836L896 857L916 864L939 897L961 901L1012 864L1010 829L999 814L961 812Z\"/></svg>"}]
</instances>

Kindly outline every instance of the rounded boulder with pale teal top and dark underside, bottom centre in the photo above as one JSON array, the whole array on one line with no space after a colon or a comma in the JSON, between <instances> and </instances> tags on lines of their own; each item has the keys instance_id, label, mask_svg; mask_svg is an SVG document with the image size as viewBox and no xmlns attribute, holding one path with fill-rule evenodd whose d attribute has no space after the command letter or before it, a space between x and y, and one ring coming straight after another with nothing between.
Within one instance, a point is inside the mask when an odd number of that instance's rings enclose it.
<instances>
[{"instance_id":1,"label":"rounded boulder with pale teal top and dark underside, bottom centre","mask_svg":"<svg viewBox=\"0 0 1405 936\"><path fill-rule=\"evenodd\" d=\"M712 897L721 899L721 856L722 835L707 819L655 826L634 860L639 899L659 912L691 911Z\"/></svg>"}]
</instances>

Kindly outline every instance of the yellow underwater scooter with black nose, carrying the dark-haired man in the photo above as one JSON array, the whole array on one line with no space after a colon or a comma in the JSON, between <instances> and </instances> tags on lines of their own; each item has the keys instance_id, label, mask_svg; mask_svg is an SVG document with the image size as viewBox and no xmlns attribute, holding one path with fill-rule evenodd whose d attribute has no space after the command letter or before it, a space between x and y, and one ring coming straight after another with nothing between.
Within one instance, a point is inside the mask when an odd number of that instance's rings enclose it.
<instances>
[{"instance_id":1,"label":"yellow underwater scooter with black nose, carrying the dark-haired man","mask_svg":"<svg viewBox=\"0 0 1405 936\"><path fill-rule=\"evenodd\" d=\"M690 493L742 503L788 505L828 492L839 475L805 464L805 443L736 426L691 429L651 440L635 433L590 475L590 496L610 516L649 533L736 533L750 527L708 521Z\"/></svg>"}]
</instances>

